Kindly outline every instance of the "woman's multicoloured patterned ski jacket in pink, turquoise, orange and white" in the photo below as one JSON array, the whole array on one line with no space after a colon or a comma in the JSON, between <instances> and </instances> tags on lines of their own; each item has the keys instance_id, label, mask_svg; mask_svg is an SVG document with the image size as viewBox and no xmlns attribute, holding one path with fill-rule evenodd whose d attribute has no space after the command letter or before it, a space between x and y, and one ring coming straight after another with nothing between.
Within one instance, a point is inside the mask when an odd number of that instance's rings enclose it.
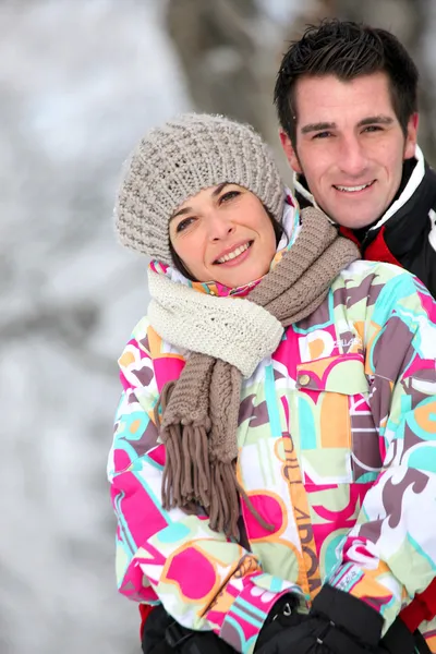
<instances>
[{"instance_id":1,"label":"woman's multicoloured patterned ski jacket in pink, turquoise, orange and white","mask_svg":"<svg viewBox=\"0 0 436 654\"><path fill-rule=\"evenodd\" d=\"M165 272L165 269L161 270ZM207 287L199 290L208 291ZM164 510L155 405L189 354L147 318L120 360L108 475L122 594L252 652L286 592L328 582L376 608L385 631L436 576L436 303L409 272L356 262L243 383L240 543L207 516ZM436 621L421 630L436 652Z\"/></svg>"}]
</instances>

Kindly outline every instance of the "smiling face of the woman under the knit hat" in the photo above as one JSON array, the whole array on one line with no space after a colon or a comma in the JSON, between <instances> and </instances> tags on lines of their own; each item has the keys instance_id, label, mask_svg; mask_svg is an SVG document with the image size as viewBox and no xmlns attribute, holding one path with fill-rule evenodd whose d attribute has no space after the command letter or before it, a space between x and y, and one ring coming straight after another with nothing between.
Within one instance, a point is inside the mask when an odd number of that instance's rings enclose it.
<instances>
[{"instance_id":1,"label":"smiling face of the woman under the knit hat","mask_svg":"<svg viewBox=\"0 0 436 654\"><path fill-rule=\"evenodd\" d=\"M238 184L190 197L172 215L170 241L196 281L244 286L269 270L276 234L262 202Z\"/></svg>"}]
</instances>

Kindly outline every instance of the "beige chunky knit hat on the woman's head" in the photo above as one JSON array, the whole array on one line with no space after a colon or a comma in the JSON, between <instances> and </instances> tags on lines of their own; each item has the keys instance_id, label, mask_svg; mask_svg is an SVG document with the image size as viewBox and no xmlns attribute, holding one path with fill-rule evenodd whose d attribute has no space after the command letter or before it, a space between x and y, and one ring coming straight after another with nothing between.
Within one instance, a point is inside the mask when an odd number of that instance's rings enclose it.
<instances>
[{"instance_id":1,"label":"beige chunky knit hat on the woman's head","mask_svg":"<svg viewBox=\"0 0 436 654\"><path fill-rule=\"evenodd\" d=\"M253 128L223 116L185 113L152 130L134 149L119 191L121 243L173 265L172 214L189 197L222 182L252 191L281 222L284 185Z\"/></svg>"}]
</instances>

